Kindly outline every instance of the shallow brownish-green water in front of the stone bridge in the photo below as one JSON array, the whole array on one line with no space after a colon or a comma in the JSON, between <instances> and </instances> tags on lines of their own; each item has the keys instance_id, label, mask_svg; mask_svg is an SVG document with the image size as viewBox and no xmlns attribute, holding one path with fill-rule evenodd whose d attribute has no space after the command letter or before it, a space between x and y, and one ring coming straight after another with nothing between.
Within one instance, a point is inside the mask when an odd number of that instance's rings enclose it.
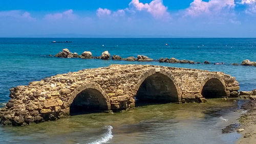
<instances>
[{"instance_id":1,"label":"shallow brownish-green water in front of the stone bridge","mask_svg":"<svg viewBox=\"0 0 256 144\"><path fill-rule=\"evenodd\" d=\"M158 104L117 113L92 113L27 127L0 127L4 143L233 143L244 101L210 99L203 104ZM223 118L228 119L227 122ZM112 129L113 128L113 129Z\"/></svg>"}]
</instances>

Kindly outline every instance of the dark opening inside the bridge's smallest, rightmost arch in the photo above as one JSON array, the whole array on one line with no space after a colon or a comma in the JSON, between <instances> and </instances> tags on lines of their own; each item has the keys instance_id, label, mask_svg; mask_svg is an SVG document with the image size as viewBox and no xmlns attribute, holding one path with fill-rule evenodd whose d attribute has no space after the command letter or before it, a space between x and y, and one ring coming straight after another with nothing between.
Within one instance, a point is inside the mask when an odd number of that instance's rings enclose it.
<instances>
[{"instance_id":1,"label":"dark opening inside the bridge's smallest, rightmost arch","mask_svg":"<svg viewBox=\"0 0 256 144\"><path fill-rule=\"evenodd\" d=\"M218 79L208 80L202 89L201 94L204 98L221 98L226 96L225 86Z\"/></svg>"}]
</instances>

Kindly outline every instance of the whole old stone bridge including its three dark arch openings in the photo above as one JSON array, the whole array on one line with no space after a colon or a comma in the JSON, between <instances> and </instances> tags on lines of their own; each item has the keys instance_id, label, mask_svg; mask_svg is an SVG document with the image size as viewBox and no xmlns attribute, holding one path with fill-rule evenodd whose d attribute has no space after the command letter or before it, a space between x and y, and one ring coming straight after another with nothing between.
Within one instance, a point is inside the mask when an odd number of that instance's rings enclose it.
<instances>
[{"instance_id":1,"label":"whole old stone bridge including its three dark arch openings","mask_svg":"<svg viewBox=\"0 0 256 144\"><path fill-rule=\"evenodd\" d=\"M239 90L221 72L155 65L110 65L56 75L10 89L2 125L27 125L93 110L122 110L139 102L204 102Z\"/></svg>"}]
</instances>

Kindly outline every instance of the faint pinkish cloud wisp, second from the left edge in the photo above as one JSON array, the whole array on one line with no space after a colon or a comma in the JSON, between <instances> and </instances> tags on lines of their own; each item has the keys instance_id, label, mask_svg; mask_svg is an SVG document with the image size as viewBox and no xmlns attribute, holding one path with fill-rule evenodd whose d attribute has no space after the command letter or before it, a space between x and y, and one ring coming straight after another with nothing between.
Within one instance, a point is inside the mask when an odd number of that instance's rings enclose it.
<instances>
[{"instance_id":1,"label":"faint pinkish cloud wisp, second from the left edge","mask_svg":"<svg viewBox=\"0 0 256 144\"><path fill-rule=\"evenodd\" d=\"M60 20L60 19L74 19L76 16L73 10L67 10L62 13L47 14L44 19L46 20Z\"/></svg>"}]
</instances>

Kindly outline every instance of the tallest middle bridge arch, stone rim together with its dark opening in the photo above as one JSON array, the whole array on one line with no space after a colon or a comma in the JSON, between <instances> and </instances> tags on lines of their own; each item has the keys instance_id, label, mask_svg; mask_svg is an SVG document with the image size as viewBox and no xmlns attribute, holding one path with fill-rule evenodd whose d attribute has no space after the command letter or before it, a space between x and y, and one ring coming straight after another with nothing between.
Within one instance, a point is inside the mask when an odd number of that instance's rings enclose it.
<instances>
[{"instance_id":1,"label":"tallest middle bridge arch, stone rim together with its dark opening","mask_svg":"<svg viewBox=\"0 0 256 144\"><path fill-rule=\"evenodd\" d=\"M156 67L140 75L135 97L142 101L180 102L181 92L172 73Z\"/></svg>"}]
</instances>

